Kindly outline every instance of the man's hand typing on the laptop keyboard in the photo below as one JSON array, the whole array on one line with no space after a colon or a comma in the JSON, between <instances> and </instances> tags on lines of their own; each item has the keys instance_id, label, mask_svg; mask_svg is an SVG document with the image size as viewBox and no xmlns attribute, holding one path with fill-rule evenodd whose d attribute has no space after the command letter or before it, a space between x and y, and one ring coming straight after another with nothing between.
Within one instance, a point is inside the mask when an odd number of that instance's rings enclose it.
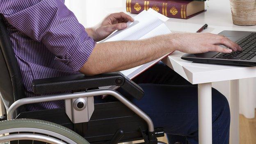
<instances>
[{"instance_id":1,"label":"man's hand typing on the laptop keyboard","mask_svg":"<svg viewBox=\"0 0 256 144\"><path fill-rule=\"evenodd\" d=\"M177 33L171 35L176 50L183 53L206 53L216 51L220 53L231 53L233 51L241 51L242 48L230 39L217 34L211 33ZM222 48L224 45L228 48Z\"/></svg>"}]
</instances>

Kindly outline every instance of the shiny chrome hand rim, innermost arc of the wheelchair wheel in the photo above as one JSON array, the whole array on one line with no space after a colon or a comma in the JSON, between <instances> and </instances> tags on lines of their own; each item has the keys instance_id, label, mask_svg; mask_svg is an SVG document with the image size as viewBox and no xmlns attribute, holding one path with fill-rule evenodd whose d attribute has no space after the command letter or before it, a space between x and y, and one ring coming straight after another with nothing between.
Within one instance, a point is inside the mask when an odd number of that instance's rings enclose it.
<instances>
[{"instance_id":1,"label":"shiny chrome hand rim, innermost arc of the wheelchair wheel","mask_svg":"<svg viewBox=\"0 0 256 144\"><path fill-rule=\"evenodd\" d=\"M36 140L40 142L47 142L49 144L66 144L53 137L47 137L44 135L36 135L36 134L14 134L14 135L6 135L3 137L0 137L0 143L9 142L13 140Z\"/></svg>"}]
</instances>

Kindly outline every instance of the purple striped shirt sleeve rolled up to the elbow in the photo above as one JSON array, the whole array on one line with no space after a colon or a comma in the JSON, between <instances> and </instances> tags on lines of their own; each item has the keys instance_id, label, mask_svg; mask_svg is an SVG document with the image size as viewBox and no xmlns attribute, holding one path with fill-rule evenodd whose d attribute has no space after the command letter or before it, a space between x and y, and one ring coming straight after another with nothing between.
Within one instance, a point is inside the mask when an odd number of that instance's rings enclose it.
<instances>
[{"instance_id":1,"label":"purple striped shirt sleeve rolled up to the elbow","mask_svg":"<svg viewBox=\"0 0 256 144\"><path fill-rule=\"evenodd\" d=\"M0 13L19 31L42 42L55 60L79 71L96 42L64 0L0 0Z\"/></svg>"}]
</instances>

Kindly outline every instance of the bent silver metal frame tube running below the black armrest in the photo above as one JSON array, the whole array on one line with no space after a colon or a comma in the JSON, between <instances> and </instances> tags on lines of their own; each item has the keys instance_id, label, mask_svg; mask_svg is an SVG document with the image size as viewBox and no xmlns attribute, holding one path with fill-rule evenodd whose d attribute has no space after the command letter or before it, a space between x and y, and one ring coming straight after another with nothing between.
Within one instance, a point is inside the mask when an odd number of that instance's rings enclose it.
<instances>
[{"instance_id":1,"label":"bent silver metal frame tube running below the black armrest","mask_svg":"<svg viewBox=\"0 0 256 144\"><path fill-rule=\"evenodd\" d=\"M7 112L7 119L14 119L14 112L15 110L20 107L21 105L30 104L30 103L41 103L41 102L47 102L47 101L58 101L58 100L66 100L66 99L72 99L72 98L84 98L89 96L99 96L99 95L111 95L117 98L121 103L126 105L130 110L135 112L139 117L144 119L146 123L148 124L149 132L154 132L154 125L151 118L142 110L139 109L136 105L128 101L127 98L122 96L119 92L114 91L112 89L97 89L97 90L91 90L87 92L80 92L80 93L74 93L74 94L58 94L58 95L49 95L49 96L36 96L36 97L30 97L30 98L22 98L18 101L15 101L10 107Z\"/></svg>"}]
</instances>

